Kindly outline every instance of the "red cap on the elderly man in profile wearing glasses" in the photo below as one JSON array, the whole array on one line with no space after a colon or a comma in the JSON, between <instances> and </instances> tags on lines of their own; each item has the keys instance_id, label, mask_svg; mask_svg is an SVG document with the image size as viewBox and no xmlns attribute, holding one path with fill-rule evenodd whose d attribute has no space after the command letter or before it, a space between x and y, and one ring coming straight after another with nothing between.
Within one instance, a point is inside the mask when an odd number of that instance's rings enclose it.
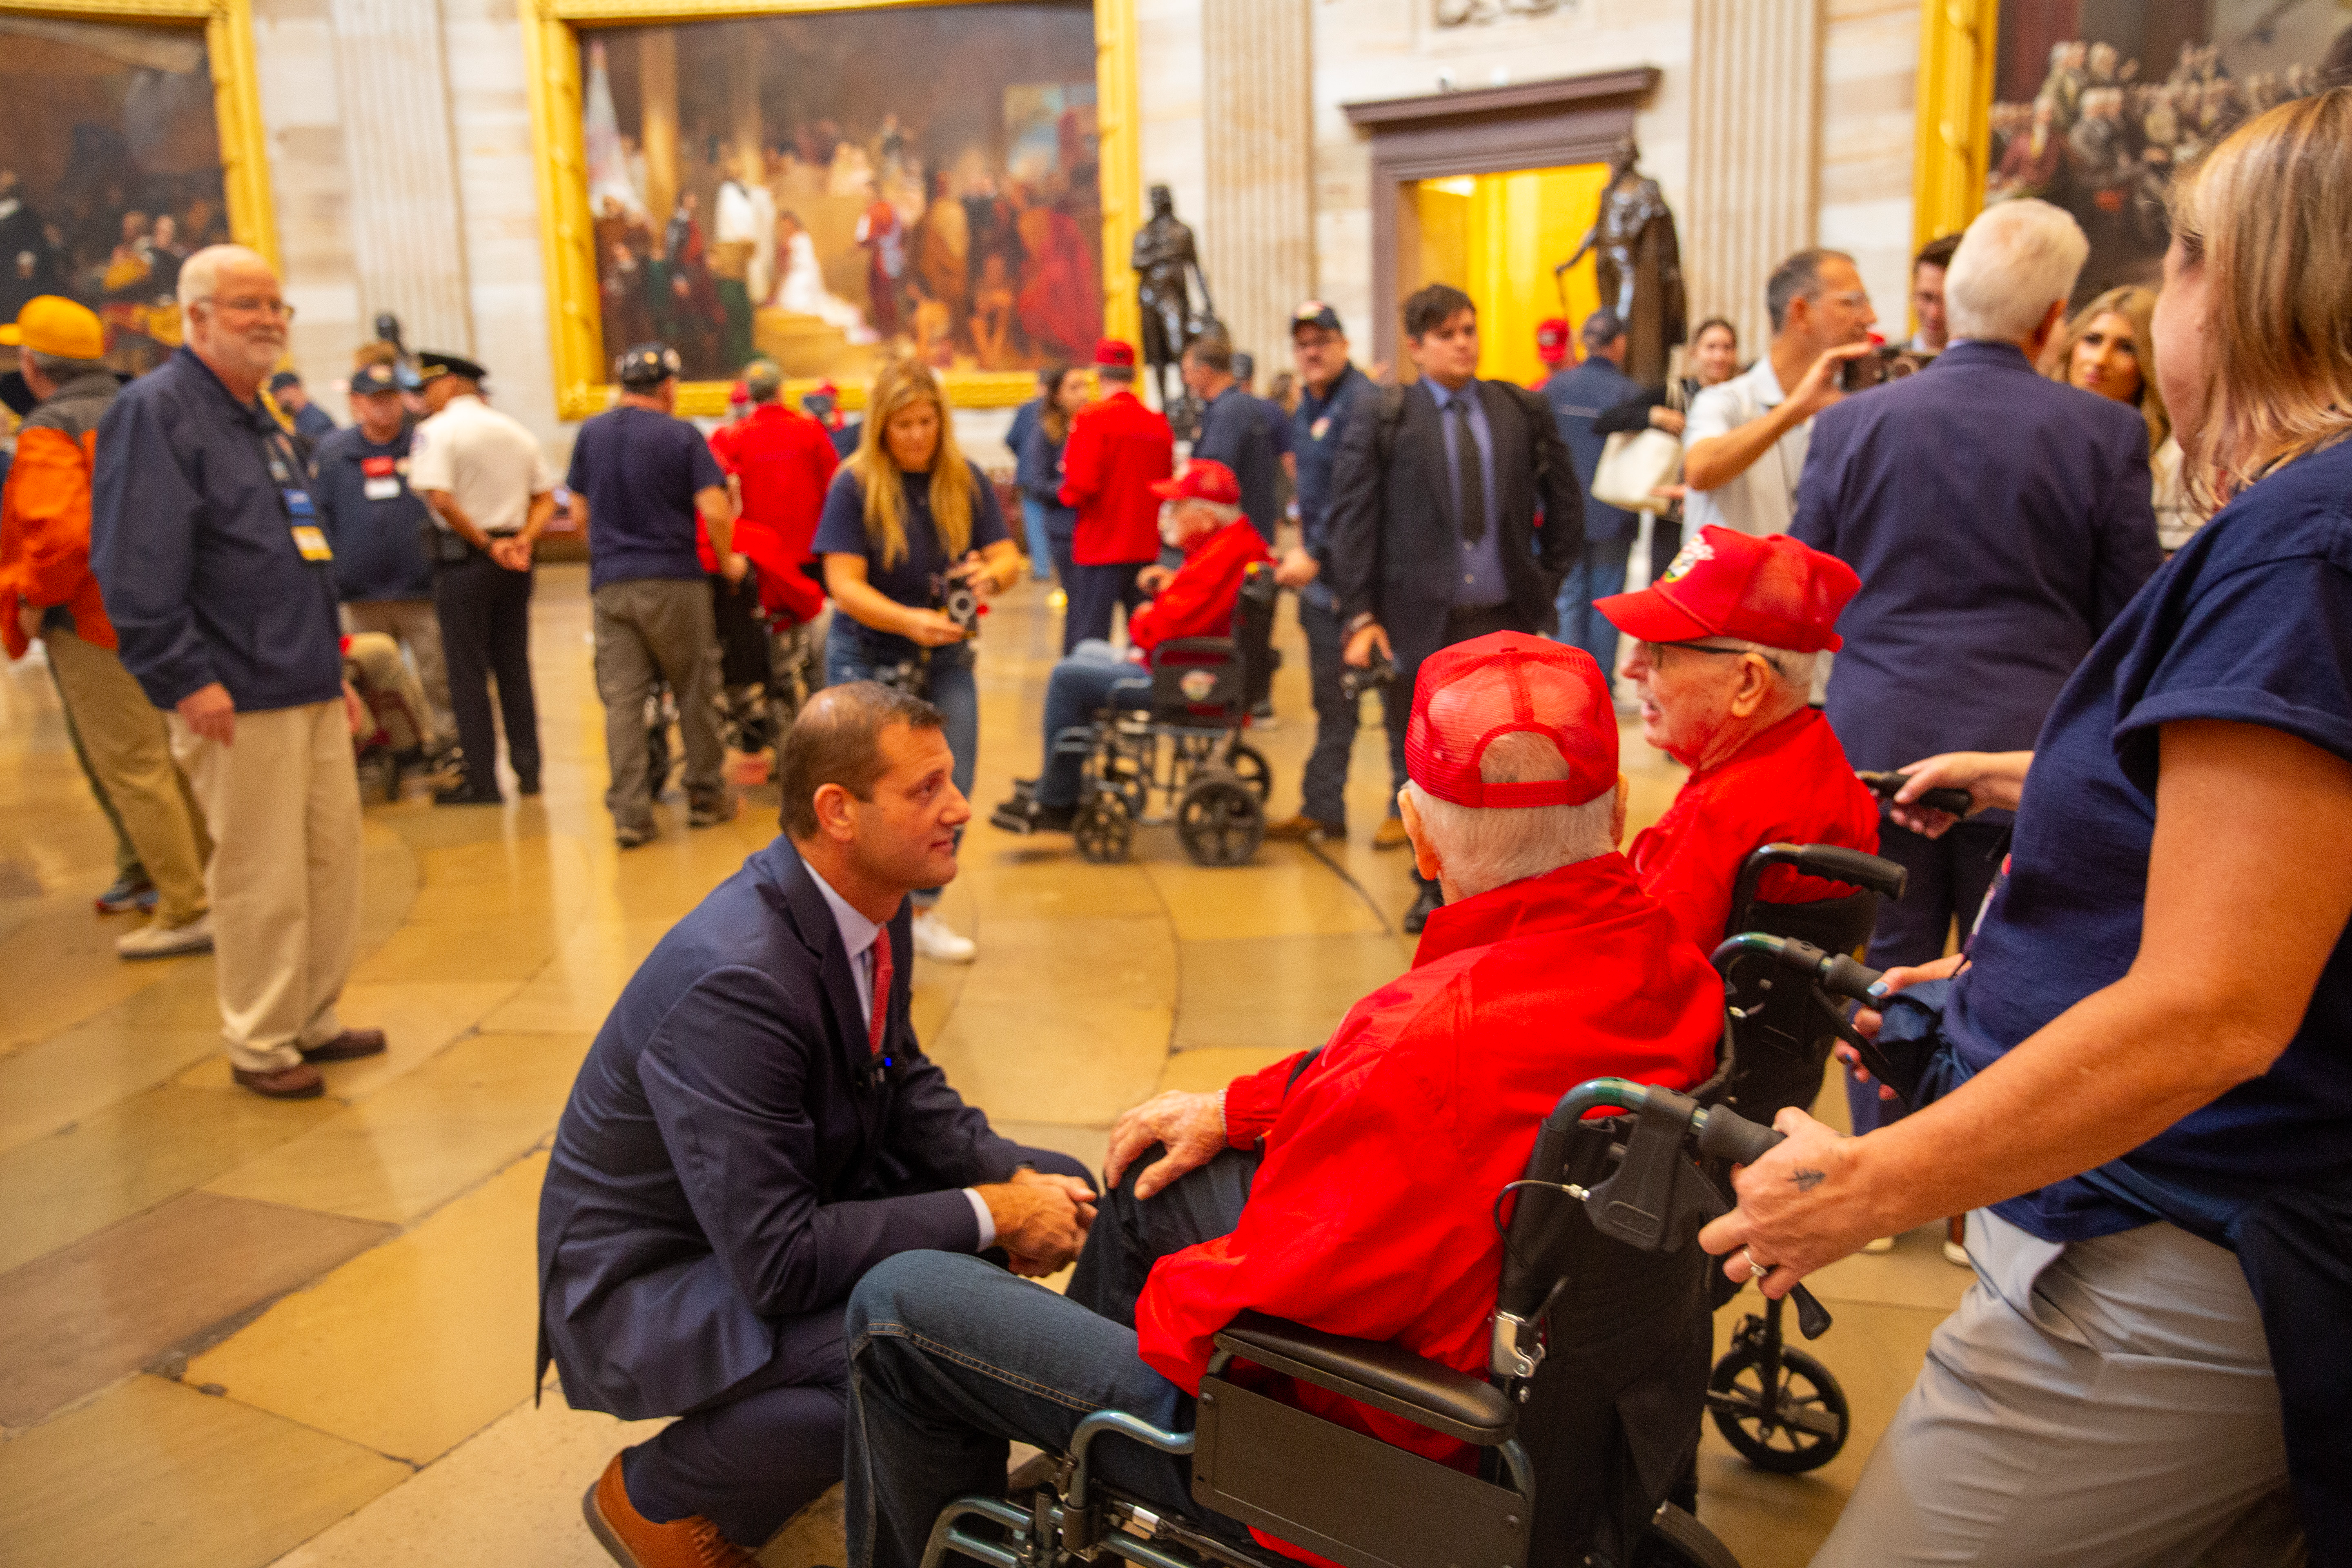
<instances>
[{"instance_id":1,"label":"red cap on the elderly man in profile wearing glasses","mask_svg":"<svg viewBox=\"0 0 2352 1568\"><path fill-rule=\"evenodd\" d=\"M1832 630L1863 590L1853 567L1788 534L1705 527L1656 583L1592 599L1609 623L1642 642L1738 637L1766 649L1818 654L1844 639Z\"/></svg>"}]
</instances>

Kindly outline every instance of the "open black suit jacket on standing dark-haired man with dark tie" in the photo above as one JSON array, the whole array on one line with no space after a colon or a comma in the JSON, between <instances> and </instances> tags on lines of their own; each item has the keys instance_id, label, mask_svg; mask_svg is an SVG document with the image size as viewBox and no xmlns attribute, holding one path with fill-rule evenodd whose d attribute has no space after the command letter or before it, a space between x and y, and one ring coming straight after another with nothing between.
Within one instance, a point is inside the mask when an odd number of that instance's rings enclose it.
<instances>
[{"instance_id":1,"label":"open black suit jacket on standing dark-haired man with dark tie","mask_svg":"<svg viewBox=\"0 0 2352 1568\"><path fill-rule=\"evenodd\" d=\"M1494 435L1503 581L1526 625L1550 630L1559 578L1585 545L1583 487L1534 393L1505 381L1472 386ZM1348 418L1324 531L1341 618L1371 611L1388 628L1402 677L1446 642L1461 522L1437 400L1414 383L1395 421L1381 418L1383 407L1371 395Z\"/></svg>"}]
</instances>

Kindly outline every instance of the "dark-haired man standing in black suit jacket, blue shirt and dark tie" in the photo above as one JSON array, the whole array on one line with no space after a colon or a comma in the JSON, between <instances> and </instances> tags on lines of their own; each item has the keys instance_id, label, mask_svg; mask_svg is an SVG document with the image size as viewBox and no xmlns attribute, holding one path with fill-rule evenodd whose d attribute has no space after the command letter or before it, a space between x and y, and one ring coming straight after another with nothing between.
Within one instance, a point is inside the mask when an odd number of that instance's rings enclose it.
<instances>
[{"instance_id":1,"label":"dark-haired man standing in black suit jacket, blue shirt and dark tie","mask_svg":"<svg viewBox=\"0 0 2352 1568\"><path fill-rule=\"evenodd\" d=\"M1552 411L1508 381L1477 378L1477 306L1432 282L1404 301L1404 348L1421 371L1359 409L1331 473L1331 588L1341 658L1388 658L1395 691L1437 649L1486 632L1541 632L1585 543L1583 487ZM1541 527L1538 527L1541 522ZM1402 701L1385 703L1390 769L1404 778ZM1395 816L1374 846L1406 842ZM1404 917L1418 933L1442 900L1421 889Z\"/></svg>"}]
</instances>

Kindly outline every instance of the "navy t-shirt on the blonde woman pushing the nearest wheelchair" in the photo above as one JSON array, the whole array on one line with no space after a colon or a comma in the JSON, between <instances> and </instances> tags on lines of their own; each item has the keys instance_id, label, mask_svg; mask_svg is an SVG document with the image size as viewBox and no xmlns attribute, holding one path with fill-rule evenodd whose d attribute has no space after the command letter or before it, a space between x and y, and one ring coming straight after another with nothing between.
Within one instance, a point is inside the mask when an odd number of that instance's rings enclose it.
<instances>
[{"instance_id":1,"label":"navy t-shirt on the blonde woman pushing the nearest wheelchair","mask_svg":"<svg viewBox=\"0 0 2352 1568\"><path fill-rule=\"evenodd\" d=\"M2058 693L1994 896L1943 1013L1983 1070L2140 950L2157 731L2265 724L2352 757L2352 442L2232 501L2131 599ZM2352 938L2338 936L2286 1053L2131 1154L2159 1182L2246 1197L2352 1173ZM2063 1180L1994 1206L2046 1241L2143 1215Z\"/></svg>"}]
</instances>

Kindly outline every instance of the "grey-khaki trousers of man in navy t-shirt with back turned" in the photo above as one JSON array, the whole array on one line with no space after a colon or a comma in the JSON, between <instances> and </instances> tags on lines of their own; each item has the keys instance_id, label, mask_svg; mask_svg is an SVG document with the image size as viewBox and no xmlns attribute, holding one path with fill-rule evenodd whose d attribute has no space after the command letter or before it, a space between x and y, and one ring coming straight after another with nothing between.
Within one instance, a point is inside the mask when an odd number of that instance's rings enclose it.
<instances>
[{"instance_id":1,"label":"grey-khaki trousers of man in navy t-shirt with back turned","mask_svg":"<svg viewBox=\"0 0 2352 1568\"><path fill-rule=\"evenodd\" d=\"M612 788L604 809L614 827L652 827L654 792L644 759L644 698L654 677L677 696L677 731L687 745L687 799L727 797L727 748L720 741L720 642L710 618L710 583L637 578L604 583L595 604L595 691L604 698L604 759Z\"/></svg>"}]
</instances>

